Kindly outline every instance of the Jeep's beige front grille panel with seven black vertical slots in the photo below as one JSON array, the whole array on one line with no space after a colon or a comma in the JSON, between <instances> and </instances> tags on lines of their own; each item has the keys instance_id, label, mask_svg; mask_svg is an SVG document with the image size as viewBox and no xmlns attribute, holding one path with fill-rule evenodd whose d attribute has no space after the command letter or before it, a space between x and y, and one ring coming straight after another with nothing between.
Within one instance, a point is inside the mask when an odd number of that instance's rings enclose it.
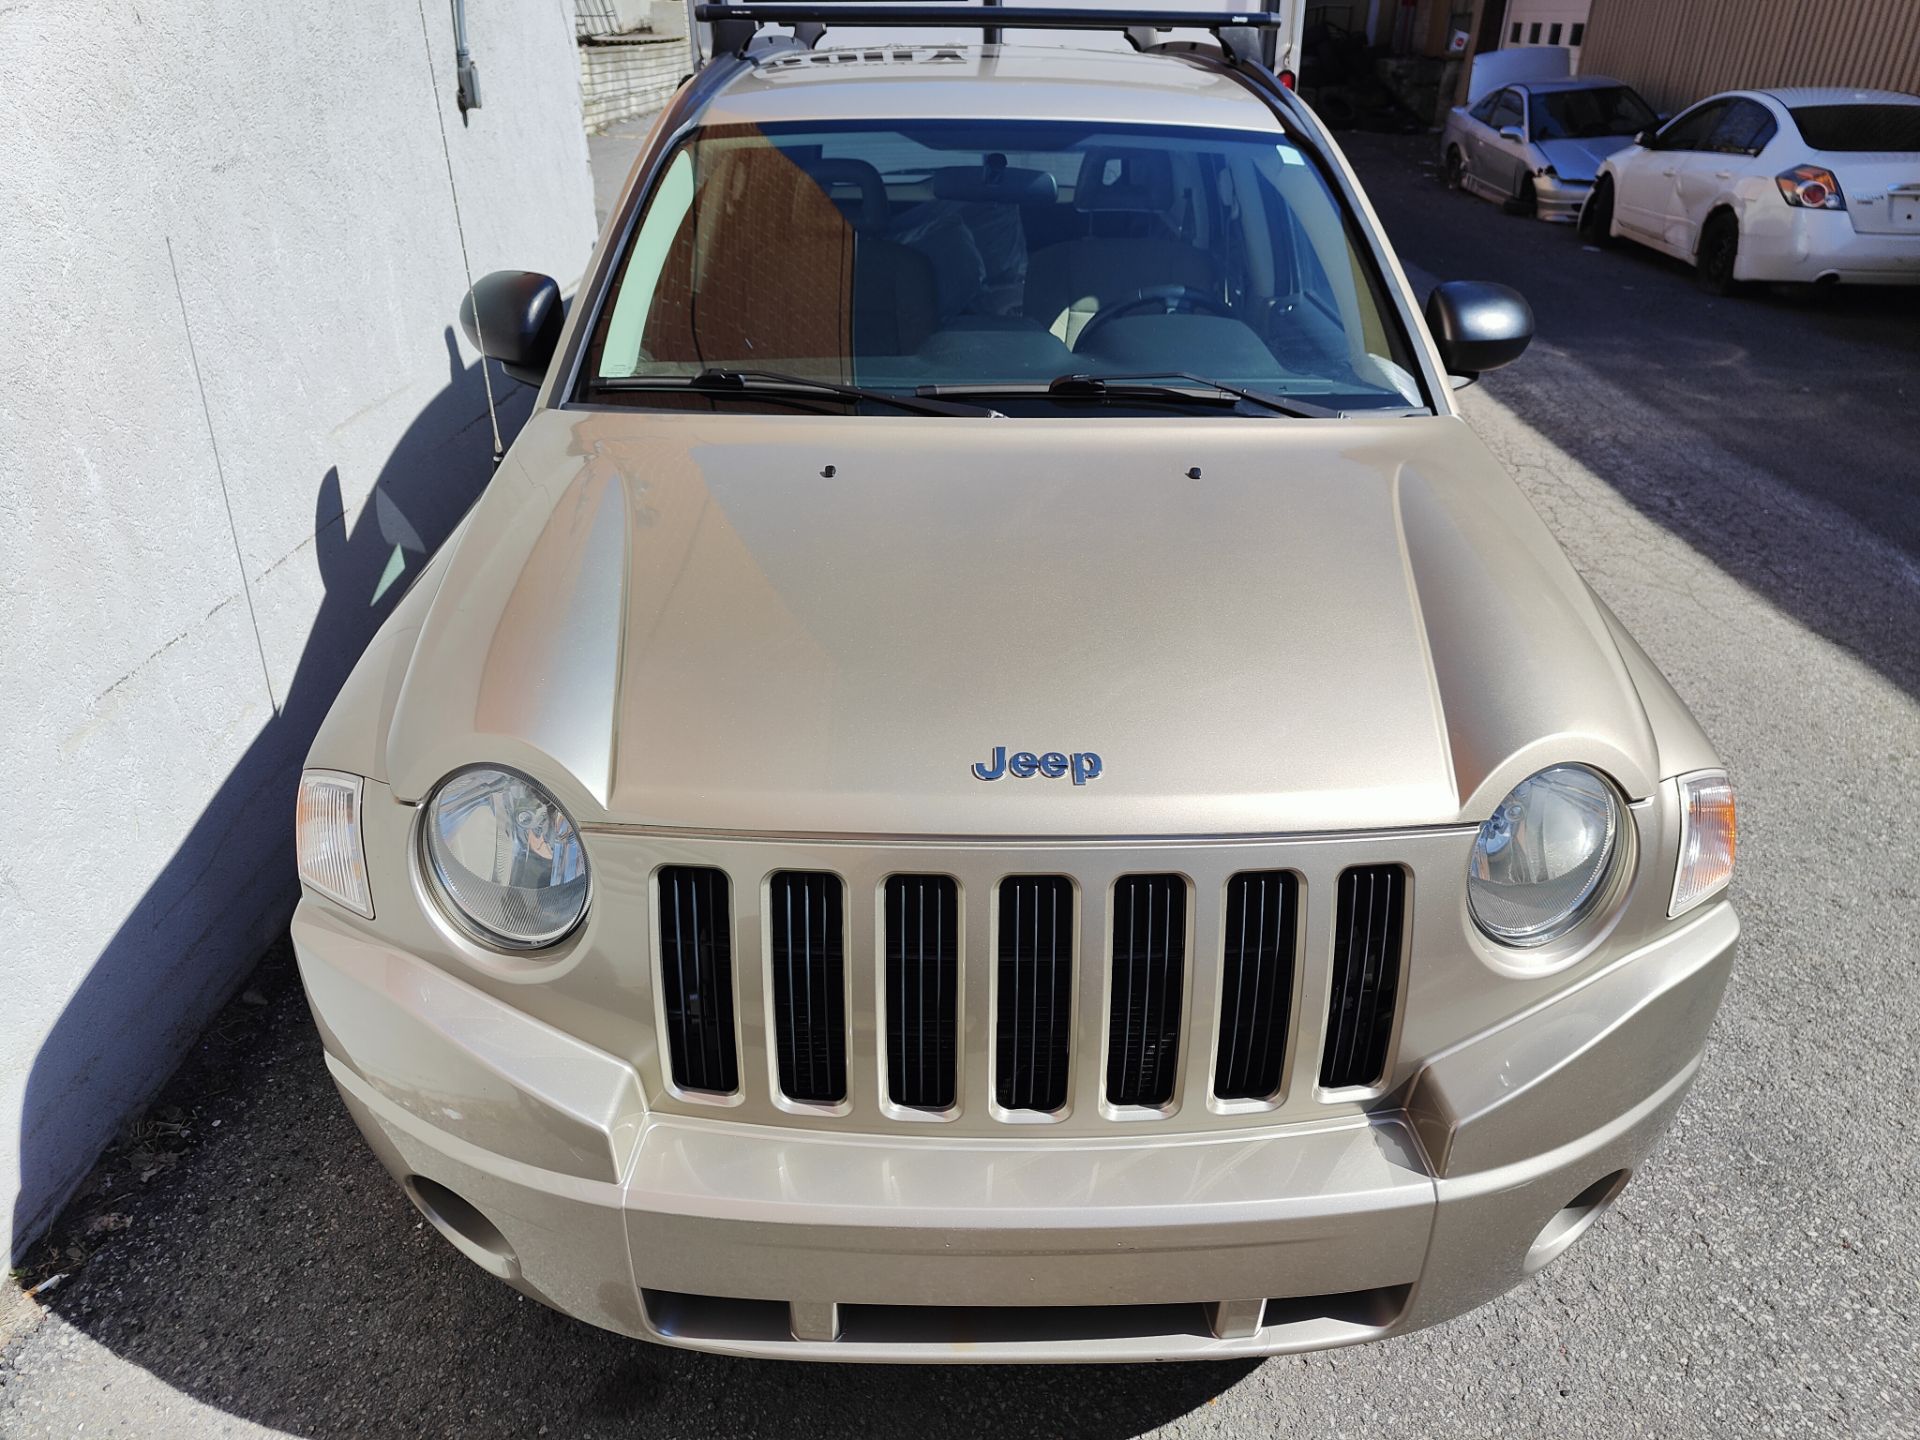
<instances>
[{"instance_id":1,"label":"Jeep's beige front grille panel with seven black vertical slots","mask_svg":"<svg viewBox=\"0 0 1920 1440\"><path fill-rule=\"evenodd\" d=\"M1415 1068L1415 877L1469 841L676 841L641 1079L668 1112L968 1140L1354 1114Z\"/></svg>"}]
</instances>

